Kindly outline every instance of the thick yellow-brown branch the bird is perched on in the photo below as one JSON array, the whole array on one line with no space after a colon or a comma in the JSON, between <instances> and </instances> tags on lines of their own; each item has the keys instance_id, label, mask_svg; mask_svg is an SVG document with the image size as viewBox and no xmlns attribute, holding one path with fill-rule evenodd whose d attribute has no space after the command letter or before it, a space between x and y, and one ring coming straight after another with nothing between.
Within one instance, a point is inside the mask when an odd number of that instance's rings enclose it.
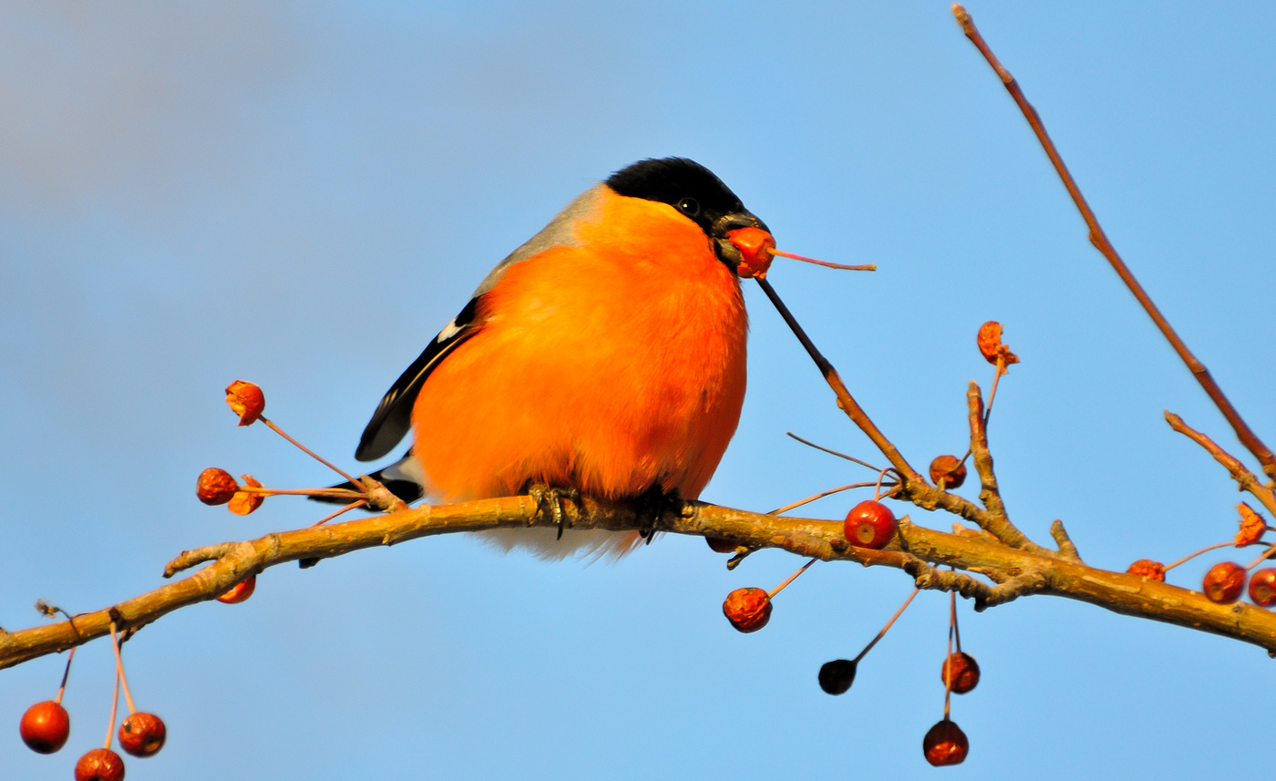
<instances>
[{"instance_id":1,"label":"thick yellow-brown branch the bird is perched on","mask_svg":"<svg viewBox=\"0 0 1276 781\"><path fill-rule=\"evenodd\" d=\"M137 630L180 607L208 601L262 570L301 559L332 558L365 547L394 545L433 535L553 526L530 496L485 499L464 504L421 507L346 523L274 532L244 542L225 542L185 551L165 569L179 572L212 562L177 582L107 609L60 621L0 634L0 669L83 644L119 629ZM633 531L651 527L649 509L630 504L564 503L572 528ZM1240 639L1276 655L1276 613L1253 605L1216 605L1205 595L1138 576L1106 572L1045 554L1008 547L981 536L944 533L900 521L900 537L888 550L851 546L841 521L785 518L698 502L681 512L666 510L656 528L683 535L722 537L750 549L778 547L806 558L893 567L914 576L917 587L956 590L977 607L1027 593L1081 600L1115 613L1150 618ZM937 567L953 567L946 573ZM967 573L989 577L989 586Z\"/></svg>"}]
</instances>

